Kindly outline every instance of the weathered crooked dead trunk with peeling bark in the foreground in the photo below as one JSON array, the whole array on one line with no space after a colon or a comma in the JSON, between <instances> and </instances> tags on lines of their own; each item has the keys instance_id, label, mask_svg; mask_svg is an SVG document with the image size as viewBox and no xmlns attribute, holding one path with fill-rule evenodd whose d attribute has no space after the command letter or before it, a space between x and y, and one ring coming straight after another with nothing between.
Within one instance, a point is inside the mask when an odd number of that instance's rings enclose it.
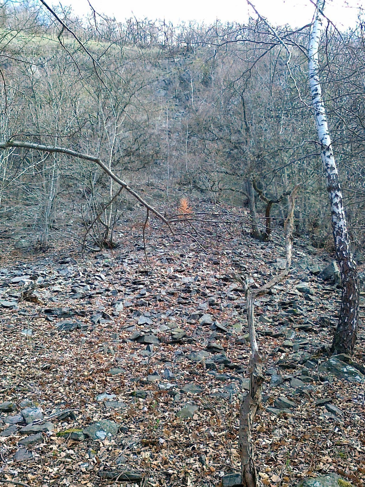
<instances>
[{"instance_id":1,"label":"weathered crooked dead trunk with peeling bark in the foreground","mask_svg":"<svg viewBox=\"0 0 365 487\"><path fill-rule=\"evenodd\" d=\"M282 281L288 274L292 264L292 233L293 233L293 214L296 192L299 185L295 186L289 196L288 216L284 223L285 228L285 269L258 289L248 289L246 287L246 304L247 304L247 324L250 334L251 343L251 361L250 361L250 391L241 401L239 411L239 451L241 456L241 474L243 487L256 487L257 473L254 459L254 450L252 445L251 431L255 421L257 409L261 403L261 389L263 383L262 359L258 352L255 330L255 306L254 302L258 296L266 294L275 284ZM237 279L237 278L236 278Z\"/></svg>"}]
</instances>

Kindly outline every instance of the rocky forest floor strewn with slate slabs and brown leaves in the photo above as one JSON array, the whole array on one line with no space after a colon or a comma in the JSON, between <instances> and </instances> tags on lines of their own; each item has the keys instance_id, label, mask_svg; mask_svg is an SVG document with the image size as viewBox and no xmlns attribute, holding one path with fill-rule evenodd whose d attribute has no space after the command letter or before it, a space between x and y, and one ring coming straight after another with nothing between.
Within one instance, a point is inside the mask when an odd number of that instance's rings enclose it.
<instances>
[{"instance_id":1,"label":"rocky forest floor strewn with slate slabs and brown leaves","mask_svg":"<svg viewBox=\"0 0 365 487\"><path fill-rule=\"evenodd\" d=\"M259 243L241 225L242 209L234 217L223 205L194 211L199 219L181 219L174 235L150 221L148 260L141 228L121 231L115 250L84 256L3 245L3 485L232 485L224 476L240 469L238 405L250 357L233 276L255 286L280 272L283 232ZM266 486L326 472L365 486L362 375L348 367L354 380L339 378L324 353L340 290L318 273L331 260L296 239L291 274L256 301L266 380L254 442ZM361 327L360 369L364 358Z\"/></svg>"}]
</instances>

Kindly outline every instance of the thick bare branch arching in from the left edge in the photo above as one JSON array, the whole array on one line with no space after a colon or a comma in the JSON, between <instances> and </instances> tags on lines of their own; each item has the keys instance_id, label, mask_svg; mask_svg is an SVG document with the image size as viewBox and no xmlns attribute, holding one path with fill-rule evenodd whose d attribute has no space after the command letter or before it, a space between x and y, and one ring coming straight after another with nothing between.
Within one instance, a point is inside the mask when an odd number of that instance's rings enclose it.
<instances>
[{"instance_id":1,"label":"thick bare branch arching in from the left edge","mask_svg":"<svg viewBox=\"0 0 365 487\"><path fill-rule=\"evenodd\" d=\"M0 149L8 149L9 147L18 147L23 149L31 149L31 150L40 150L42 152L50 152L50 153L58 153L58 154L66 154L71 155L73 157L78 157L79 159L83 159L85 161L91 161L97 164L104 172L106 172L113 181L117 184L122 186L129 194L134 196L136 200L138 200L141 205L145 206L149 211L154 213L160 220L162 220L171 230L173 233L172 228L166 218L159 213L153 206L149 205L134 189L128 186L128 184L120 179L116 174L112 172L111 169L108 168L98 157L84 154L82 152L78 152L76 150L67 149L66 147L56 147L56 146L45 146L43 144L35 144L32 142L22 142L20 140L8 140L5 142L0 142Z\"/></svg>"}]
</instances>

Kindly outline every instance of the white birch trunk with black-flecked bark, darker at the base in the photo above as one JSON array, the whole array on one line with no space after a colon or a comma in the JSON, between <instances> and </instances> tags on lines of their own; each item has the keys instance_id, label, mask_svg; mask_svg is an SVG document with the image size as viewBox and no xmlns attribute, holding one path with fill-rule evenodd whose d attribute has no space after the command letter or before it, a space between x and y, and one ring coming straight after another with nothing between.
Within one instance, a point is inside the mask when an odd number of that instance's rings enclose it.
<instances>
[{"instance_id":1,"label":"white birch trunk with black-flecked bark, darker at the base","mask_svg":"<svg viewBox=\"0 0 365 487\"><path fill-rule=\"evenodd\" d=\"M359 278L350 248L342 191L319 82L318 49L323 30L321 12L323 12L324 6L325 0L317 1L317 12L312 25L308 49L309 83L318 139L321 144L321 159L327 178L333 239L342 277L340 317L333 337L332 352L352 355L356 343L359 318Z\"/></svg>"}]
</instances>

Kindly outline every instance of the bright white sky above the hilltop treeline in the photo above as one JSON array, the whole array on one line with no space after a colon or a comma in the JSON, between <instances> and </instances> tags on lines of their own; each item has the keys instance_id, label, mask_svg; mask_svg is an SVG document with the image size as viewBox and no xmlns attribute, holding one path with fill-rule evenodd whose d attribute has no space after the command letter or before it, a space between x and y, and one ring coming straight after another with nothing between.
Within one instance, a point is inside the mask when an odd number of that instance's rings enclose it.
<instances>
[{"instance_id":1,"label":"bright white sky above the hilltop treeline","mask_svg":"<svg viewBox=\"0 0 365 487\"><path fill-rule=\"evenodd\" d=\"M56 3L56 2L54 2ZM78 15L90 11L87 0L61 0L70 4ZM300 27L310 22L314 6L310 0L252 0L257 10L273 24L290 24ZM327 0L326 15L344 29L356 23L359 7L365 0ZM91 5L99 13L105 13L122 21L131 16L137 19L165 19L177 23L179 20L198 20L204 23L237 21L244 23L249 13L255 13L245 0L91 0Z\"/></svg>"}]
</instances>

